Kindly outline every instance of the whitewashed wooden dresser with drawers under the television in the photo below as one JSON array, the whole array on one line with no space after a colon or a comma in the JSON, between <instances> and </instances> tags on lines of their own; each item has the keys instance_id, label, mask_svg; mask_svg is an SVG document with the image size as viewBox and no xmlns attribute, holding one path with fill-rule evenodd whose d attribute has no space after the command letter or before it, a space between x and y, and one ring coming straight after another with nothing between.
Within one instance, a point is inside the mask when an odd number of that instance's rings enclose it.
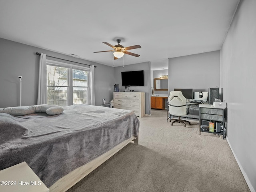
<instances>
[{"instance_id":1,"label":"whitewashed wooden dresser with drawers under the television","mask_svg":"<svg viewBox=\"0 0 256 192\"><path fill-rule=\"evenodd\" d=\"M145 92L114 92L114 108L134 111L136 116L145 116Z\"/></svg>"}]
</instances>

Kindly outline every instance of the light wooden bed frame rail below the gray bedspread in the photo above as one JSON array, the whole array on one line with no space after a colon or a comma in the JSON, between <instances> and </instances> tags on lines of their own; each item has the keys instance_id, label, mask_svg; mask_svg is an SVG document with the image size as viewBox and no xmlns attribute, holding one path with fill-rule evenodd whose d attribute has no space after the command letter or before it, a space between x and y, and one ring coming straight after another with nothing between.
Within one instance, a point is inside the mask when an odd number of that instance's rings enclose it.
<instances>
[{"instance_id":1,"label":"light wooden bed frame rail below the gray bedspread","mask_svg":"<svg viewBox=\"0 0 256 192\"><path fill-rule=\"evenodd\" d=\"M130 139L118 144L108 152L60 178L52 186L50 186L50 192L64 192L68 190L132 141L134 144L138 145L138 137L132 136Z\"/></svg>"}]
</instances>

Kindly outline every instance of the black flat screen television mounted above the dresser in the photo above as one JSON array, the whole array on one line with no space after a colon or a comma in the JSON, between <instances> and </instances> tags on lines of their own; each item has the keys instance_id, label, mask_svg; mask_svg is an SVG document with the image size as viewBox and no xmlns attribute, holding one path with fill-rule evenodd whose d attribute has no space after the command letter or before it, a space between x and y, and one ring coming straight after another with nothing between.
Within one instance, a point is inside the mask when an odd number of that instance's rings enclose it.
<instances>
[{"instance_id":1,"label":"black flat screen television mounted above the dresser","mask_svg":"<svg viewBox=\"0 0 256 192\"><path fill-rule=\"evenodd\" d=\"M122 86L144 86L144 71L124 71L122 75Z\"/></svg>"}]
</instances>

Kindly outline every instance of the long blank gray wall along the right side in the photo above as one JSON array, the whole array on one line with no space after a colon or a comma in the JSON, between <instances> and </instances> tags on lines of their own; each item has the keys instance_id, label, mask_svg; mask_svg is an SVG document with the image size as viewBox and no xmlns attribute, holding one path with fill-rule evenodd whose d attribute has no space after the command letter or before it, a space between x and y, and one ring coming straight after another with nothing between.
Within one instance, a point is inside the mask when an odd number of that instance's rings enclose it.
<instances>
[{"instance_id":1,"label":"long blank gray wall along the right side","mask_svg":"<svg viewBox=\"0 0 256 192\"><path fill-rule=\"evenodd\" d=\"M228 143L252 192L256 191L256 1L240 4L220 52L221 87L228 105Z\"/></svg>"}]
</instances>

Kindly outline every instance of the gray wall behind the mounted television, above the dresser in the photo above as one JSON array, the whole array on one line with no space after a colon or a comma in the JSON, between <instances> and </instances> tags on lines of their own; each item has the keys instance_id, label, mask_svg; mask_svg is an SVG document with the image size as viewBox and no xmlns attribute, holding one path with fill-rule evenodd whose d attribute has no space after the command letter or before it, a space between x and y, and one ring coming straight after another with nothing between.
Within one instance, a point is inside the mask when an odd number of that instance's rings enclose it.
<instances>
[{"instance_id":1,"label":"gray wall behind the mounted television, above the dresser","mask_svg":"<svg viewBox=\"0 0 256 192\"><path fill-rule=\"evenodd\" d=\"M125 65L124 68L122 66L114 67L115 84L119 84L120 92L124 91L125 86L122 86L121 72L138 70L144 70L144 86L130 86L129 90L145 92L145 113L150 114L150 62Z\"/></svg>"}]
</instances>

